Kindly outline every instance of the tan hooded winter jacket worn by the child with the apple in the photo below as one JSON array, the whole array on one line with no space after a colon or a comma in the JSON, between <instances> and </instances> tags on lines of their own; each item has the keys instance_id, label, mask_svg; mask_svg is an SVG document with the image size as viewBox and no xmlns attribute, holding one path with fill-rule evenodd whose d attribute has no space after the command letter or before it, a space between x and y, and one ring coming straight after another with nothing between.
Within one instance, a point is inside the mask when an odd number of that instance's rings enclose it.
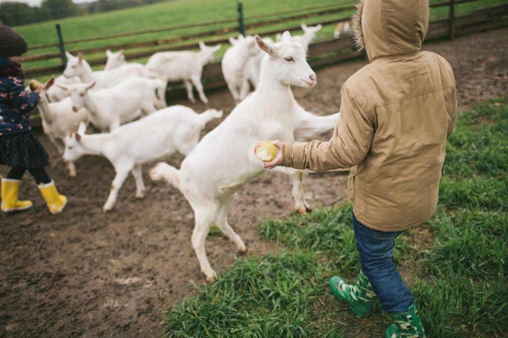
<instances>
[{"instance_id":1,"label":"tan hooded winter jacket worn by the child with the apple","mask_svg":"<svg viewBox=\"0 0 508 338\"><path fill-rule=\"evenodd\" d=\"M450 64L421 52L427 0L365 0L357 41L370 64L342 86L340 118L328 142L284 143L282 166L351 168L347 185L357 219L400 231L436 210L444 147L457 117Z\"/></svg>"}]
</instances>

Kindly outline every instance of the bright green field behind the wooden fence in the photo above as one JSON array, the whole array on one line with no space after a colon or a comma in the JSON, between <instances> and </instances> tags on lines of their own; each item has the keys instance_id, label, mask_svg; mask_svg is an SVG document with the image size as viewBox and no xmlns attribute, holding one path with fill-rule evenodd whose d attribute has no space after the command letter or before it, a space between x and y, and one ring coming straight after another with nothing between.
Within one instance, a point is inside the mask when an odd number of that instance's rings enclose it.
<instances>
[{"instance_id":1,"label":"bright green field behind the wooden fence","mask_svg":"<svg viewBox=\"0 0 508 338\"><path fill-rule=\"evenodd\" d=\"M431 3L436 3L433 0ZM440 1L439 1L440 2ZM333 4L334 6L339 5L352 5L355 1L351 0L322 0L319 3L305 1L305 0L256 0L256 1L243 1L244 17L246 22L252 22L249 18L256 16L268 16L273 13L298 11L310 7L324 6ZM457 15L465 13L472 9L489 7L504 3L503 0L479 0L472 3L466 3L457 5ZM259 28L251 31L247 31L249 34L260 33L267 31L268 29L280 29L284 30L284 27L299 25L300 22L305 22L308 25L314 25L320 22L328 20L343 20L350 16L352 12L344 12L339 14L331 14L326 16L314 17L311 19L296 20L293 22L281 23L279 25L273 25L270 27ZM279 14L276 17L287 17L290 14ZM432 9L431 16L433 18L441 18L442 16L448 15L448 8L441 7ZM42 23L30 24L17 26L15 29L21 33L28 43L28 46L37 46L43 44L57 43L57 34L55 24L59 23L62 30L64 41L73 41L91 37L99 37L109 34L118 34L124 32L135 32L143 31L148 29L156 29L162 27L171 27L183 24L198 24L203 22L216 22L218 20L236 19L236 1L233 0L173 0L164 3L157 3L144 7L137 7L113 12L99 13L88 16L71 17L58 21L47 21ZM273 17L270 17L273 18ZM262 20L262 19L257 19ZM107 47L116 51L121 44L130 44L144 41L154 41L161 39L170 39L174 36L181 36L190 33L205 32L221 27L234 27L236 23L229 24L212 24L205 27L195 28L184 28L178 30L169 30L158 33L146 33L133 36L117 37L113 39L91 41L86 43L71 44L67 45L66 49L71 51L82 50L87 48L101 48ZM334 25L325 26L319 33L320 36L331 35L334 30ZM301 31L295 31L295 33L301 33ZM215 39L217 37L227 37L235 34L223 34L211 36ZM273 37L273 36L272 36ZM205 42L207 39L204 39ZM216 58L220 58L225 50L229 46L225 45L223 48L216 53ZM153 48L153 47L150 47ZM125 53L133 53L146 48L137 48L126 50ZM29 50L25 55L36 55L44 53L55 53L58 52L57 47L44 48ZM92 53L85 55L85 59L94 59L105 57L104 52ZM136 62L144 63L146 58L135 60ZM39 68L46 66L55 66L61 64L59 58L53 58L49 60L41 61L26 61L23 66L26 70L31 68ZM94 69L102 69L103 66L96 66ZM58 74L54 74L58 75ZM37 80L45 82L50 75L38 77Z\"/></svg>"}]
</instances>

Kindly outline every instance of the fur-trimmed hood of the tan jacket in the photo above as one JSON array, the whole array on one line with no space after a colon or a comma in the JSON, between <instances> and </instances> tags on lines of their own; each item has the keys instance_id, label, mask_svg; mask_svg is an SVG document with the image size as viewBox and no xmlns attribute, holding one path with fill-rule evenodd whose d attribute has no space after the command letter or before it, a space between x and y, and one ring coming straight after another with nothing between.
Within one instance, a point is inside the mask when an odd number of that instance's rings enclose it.
<instances>
[{"instance_id":1,"label":"fur-trimmed hood of the tan jacket","mask_svg":"<svg viewBox=\"0 0 508 338\"><path fill-rule=\"evenodd\" d=\"M428 0L361 0L353 16L356 44L370 61L419 52L428 26Z\"/></svg>"}]
</instances>

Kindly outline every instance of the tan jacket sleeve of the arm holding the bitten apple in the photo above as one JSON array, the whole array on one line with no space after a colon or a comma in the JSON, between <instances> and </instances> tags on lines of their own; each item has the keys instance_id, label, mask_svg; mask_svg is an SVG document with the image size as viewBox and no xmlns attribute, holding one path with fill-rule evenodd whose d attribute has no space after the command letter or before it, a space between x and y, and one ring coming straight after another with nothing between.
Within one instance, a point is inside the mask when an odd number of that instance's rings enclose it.
<instances>
[{"instance_id":1,"label":"tan jacket sleeve of the arm holding the bitten apple","mask_svg":"<svg viewBox=\"0 0 508 338\"><path fill-rule=\"evenodd\" d=\"M328 142L283 143L282 166L327 171L362 162L374 135L373 111L365 112L346 85L341 94L340 117L332 138Z\"/></svg>"}]
</instances>

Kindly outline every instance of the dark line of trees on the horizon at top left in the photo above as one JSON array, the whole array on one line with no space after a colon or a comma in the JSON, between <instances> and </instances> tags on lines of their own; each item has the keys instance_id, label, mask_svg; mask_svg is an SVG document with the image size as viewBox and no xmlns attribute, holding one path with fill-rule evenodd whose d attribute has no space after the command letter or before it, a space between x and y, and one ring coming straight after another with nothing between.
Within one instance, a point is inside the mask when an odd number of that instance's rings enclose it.
<instances>
[{"instance_id":1,"label":"dark line of trees on the horizon at top left","mask_svg":"<svg viewBox=\"0 0 508 338\"><path fill-rule=\"evenodd\" d=\"M88 15L154 4L166 0L97 0L75 4L72 0L43 0L39 7L16 1L0 3L0 23L8 26Z\"/></svg>"}]
</instances>

